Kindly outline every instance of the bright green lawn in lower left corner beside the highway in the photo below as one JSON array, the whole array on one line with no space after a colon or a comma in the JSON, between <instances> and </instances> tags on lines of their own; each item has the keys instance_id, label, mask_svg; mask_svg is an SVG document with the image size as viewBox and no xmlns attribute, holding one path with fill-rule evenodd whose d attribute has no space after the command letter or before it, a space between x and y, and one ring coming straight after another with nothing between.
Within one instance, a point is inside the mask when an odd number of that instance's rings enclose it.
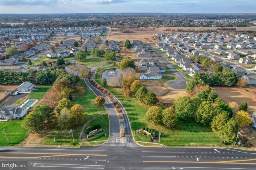
<instances>
[{"instance_id":1,"label":"bright green lawn in lower left corner beside the highway","mask_svg":"<svg viewBox=\"0 0 256 170\"><path fill-rule=\"evenodd\" d=\"M9 146L22 142L28 136L28 131L21 126L21 123L22 121L0 122L0 146L8 146L8 141L2 132L3 129L10 141Z\"/></svg>"}]
</instances>

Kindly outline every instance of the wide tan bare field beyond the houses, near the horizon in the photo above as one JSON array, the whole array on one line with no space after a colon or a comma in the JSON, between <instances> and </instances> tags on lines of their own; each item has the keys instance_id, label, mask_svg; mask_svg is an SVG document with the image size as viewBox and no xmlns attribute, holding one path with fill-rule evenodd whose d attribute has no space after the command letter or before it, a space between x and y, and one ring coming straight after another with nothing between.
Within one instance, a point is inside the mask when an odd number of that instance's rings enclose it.
<instances>
[{"instance_id":1,"label":"wide tan bare field beyond the houses, near the horizon","mask_svg":"<svg viewBox=\"0 0 256 170\"><path fill-rule=\"evenodd\" d=\"M125 41L126 39L129 39L131 42L133 40L141 40L142 42L146 43L158 43L158 39L153 39L153 34L155 33L170 33L169 31L166 31L166 29L195 29L195 30L206 30L206 29L217 29L219 27L159 27L159 28L134 28L134 29L127 29L132 31L131 33L122 33L121 31L118 31L118 29L111 29L108 34L107 39L108 40L115 40L115 41ZM235 27L236 30L240 31L255 31L256 26L250 26L250 27ZM115 30L115 32L114 32ZM234 34L234 31L228 31L230 34Z\"/></svg>"}]
</instances>

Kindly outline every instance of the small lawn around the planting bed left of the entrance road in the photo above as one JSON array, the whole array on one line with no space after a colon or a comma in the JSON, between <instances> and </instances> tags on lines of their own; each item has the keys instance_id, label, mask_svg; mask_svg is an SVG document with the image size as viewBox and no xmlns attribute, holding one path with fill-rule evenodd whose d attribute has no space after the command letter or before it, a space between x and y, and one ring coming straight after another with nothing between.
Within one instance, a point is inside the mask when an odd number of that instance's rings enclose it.
<instances>
[{"instance_id":1,"label":"small lawn around the planting bed left of the entrance road","mask_svg":"<svg viewBox=\"0 0 256 170\"><path fill-rule=\"evenodd\" d=\"M103 114L103 115L99 115L98 117L96 117L95 119L92 119L90 121L90 123L88 123L88 125L85 127L84 132L86 131L86 129L88 129L89 127L93 126L93 125L97 125L99 124L100 127L102 129L106 129L105 132L102 132L101 134L98 135L94 135L93 137L90 137L89 140L90 141L102 141L102 140L107 140L108 139L108 134L109 134L109 121L108 121L108 114ZM107 134L105 136L105 133Z\"/></svg>"}]
</instances>

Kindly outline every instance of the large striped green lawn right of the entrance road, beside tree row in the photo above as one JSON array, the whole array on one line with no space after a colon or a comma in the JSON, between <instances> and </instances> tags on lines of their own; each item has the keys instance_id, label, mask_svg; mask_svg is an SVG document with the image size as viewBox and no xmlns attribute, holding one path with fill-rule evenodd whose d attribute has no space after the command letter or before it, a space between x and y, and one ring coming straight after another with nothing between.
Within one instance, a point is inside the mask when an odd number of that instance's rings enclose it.
<instances>
[{"instance_id":1,"label":"large striped green lawn right of the entrance road, beside tree row","mask_svg":"<svg viewBox=\"0 0 256 170\"><path fill-rule=\"evenodd\" d=\"M96 82L100 82L100 71L96 74ZM168 78L167 78L168 79ZM223 146L220 139L212 132L209 126L196 123L194 121L178 121L176 127L172 129L167 129L163 126L156 126L152 123L146 121L144 116L148 110L148 106L140 104L136 98L127 104L130 98L125 97L122 94L120 88L110 88L106 87L110 92L112 92L123 104L128 114L129 121L132 127L134 138L136 141L142 141L135 135L135 130L141 128L142 126L154 129L156 134L161 131L160 143L166 145L167 147L176 146ZM144 145L143 143L141 143Z\"/></svg>"}]
</instances>

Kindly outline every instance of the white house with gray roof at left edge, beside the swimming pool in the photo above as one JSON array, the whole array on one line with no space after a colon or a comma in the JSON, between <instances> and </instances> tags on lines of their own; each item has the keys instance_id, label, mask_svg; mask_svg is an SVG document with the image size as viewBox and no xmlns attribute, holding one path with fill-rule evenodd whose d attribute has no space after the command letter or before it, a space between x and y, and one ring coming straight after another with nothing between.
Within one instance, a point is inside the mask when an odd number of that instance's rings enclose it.
<instances>
[{"instance_id":1,"label":"white house with gray roof at left edge, beside the swimming pool","mask_svg":"<svg viewBox=\"0 0 256 170\"><path fill-rule=\"evenodd\" d=\"M20 106L4 106L0 107L0 119L15 119L16 117L23 117L27 110Z\"/></svg>"}]
</instances>

